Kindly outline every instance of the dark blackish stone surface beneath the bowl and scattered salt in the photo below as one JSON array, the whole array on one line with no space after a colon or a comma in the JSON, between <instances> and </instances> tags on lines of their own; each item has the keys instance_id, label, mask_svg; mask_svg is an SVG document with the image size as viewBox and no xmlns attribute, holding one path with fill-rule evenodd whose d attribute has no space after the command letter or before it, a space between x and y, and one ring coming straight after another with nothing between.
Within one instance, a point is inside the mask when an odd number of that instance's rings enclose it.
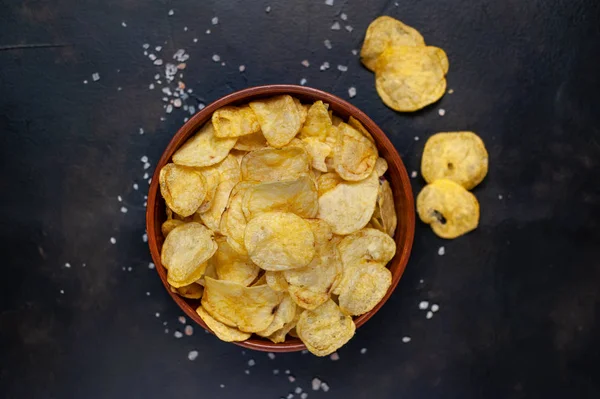
<instances>
[{"instance_id":1,"label":"dark blackish stone surface beneath the bowl and scattered salt","mask_svg":"<svg viewBox=\"0 0 600 399\"><path fill-rule=\"evenodd\" d=\"M310 398L600 397L600 3L398 3L3 1L2 46L64 47L0 51L0 396L278 398L301 386ZM330 30L340 12L352 32ZM383 105L351 53L381 14L447 51L453 94L414 115ZM491 160L475 189L479 229L446 242L419 223L396 292L337 362L270 360L200 328L175 339L180 312L142 241L140 157L155 161L184 113L159 119L162 94L148 85L163 68L143 56L146 42L165 59L190 53L193 103L301 78L343 98L355 86L351 101L389 134L409 172L432 133L476 131ZM324 61L331 69L321 72ZM418 192L423 182L413 181ZM433 319L421 300L439 303ZM310 390L315 376L331 391Z\"/></svg>"}]
</instances>

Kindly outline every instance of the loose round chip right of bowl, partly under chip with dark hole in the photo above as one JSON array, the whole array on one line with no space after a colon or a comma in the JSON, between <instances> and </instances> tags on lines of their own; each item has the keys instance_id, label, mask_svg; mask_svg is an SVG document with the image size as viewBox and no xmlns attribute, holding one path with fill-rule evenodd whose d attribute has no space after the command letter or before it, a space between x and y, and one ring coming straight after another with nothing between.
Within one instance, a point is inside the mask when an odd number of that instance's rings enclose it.
<instances>
[{"instance_id":1,"label":"loose round chip right of bowl, partly under chip with dark hole","mask_svg":"<svg viewBox=\"0 0 600 399\"><path fill-rule=\"evenodd\" d=\"M448 179L470 190L481 183L487 170L487 150L473 132L437 133L425 143L421 174L427 183Z\"/></svg>"}]
</instances>

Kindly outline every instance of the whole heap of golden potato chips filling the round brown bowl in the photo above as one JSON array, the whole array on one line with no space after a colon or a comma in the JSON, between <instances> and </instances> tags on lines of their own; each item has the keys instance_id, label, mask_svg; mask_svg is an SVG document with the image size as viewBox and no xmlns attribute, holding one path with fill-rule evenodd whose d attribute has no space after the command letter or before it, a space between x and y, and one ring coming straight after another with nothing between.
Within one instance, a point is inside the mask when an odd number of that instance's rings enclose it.
<instances>
[{"instance_id":1,"label":"whole heap of golden potato chips filling the round brown bowl","mask_svg":"<svg viewBox=\"0 0 600 399\"><path fill-rule=\"evenodd\" d=\"M227 106L160 171L161 261L224 341L300 338L318 356L353 335L392 282L397 218L373 137L322 101Z\"/></svg>"}]
</instances>

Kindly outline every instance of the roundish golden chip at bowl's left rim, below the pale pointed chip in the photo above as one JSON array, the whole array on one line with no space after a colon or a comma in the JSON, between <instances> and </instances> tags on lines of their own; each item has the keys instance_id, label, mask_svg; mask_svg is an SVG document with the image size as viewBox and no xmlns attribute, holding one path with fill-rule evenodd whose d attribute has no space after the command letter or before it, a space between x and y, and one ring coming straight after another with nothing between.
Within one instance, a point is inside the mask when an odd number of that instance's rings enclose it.
<instances>
[{"instance_id":1,"label":"roundish golden chip at bowl's left rim, below the pale pointed chip","mask_svg":"<svg viewBox=\"0 0 600 399\"><path fill-rule=\"evenodd\" d=\"M192 168L168 163L160 170L160 193L173 211L193 215L206 196L204 177Z\"/></svg>"}]
</instances>

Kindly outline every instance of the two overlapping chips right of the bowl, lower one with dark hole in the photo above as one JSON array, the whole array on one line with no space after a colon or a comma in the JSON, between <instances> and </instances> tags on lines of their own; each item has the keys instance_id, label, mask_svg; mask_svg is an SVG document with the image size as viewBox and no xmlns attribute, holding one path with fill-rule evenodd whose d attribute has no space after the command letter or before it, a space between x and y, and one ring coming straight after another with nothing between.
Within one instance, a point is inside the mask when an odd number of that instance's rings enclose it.
<instances>
[{"instance_id":1,"label":"two overlapping chips right of the bowl, lower one with dark hole","mask_svg":"<svg viewBox=\"0 0 600 399\"><path fill-rule=\"evenodd\" d=\"M473 132L437 133L427 140L421 174L427 186L417 196L417 212L442 238L456 238L479 224L479 202L467 190L488 171L488 153Z\"/></svg>"}]
</instances>

